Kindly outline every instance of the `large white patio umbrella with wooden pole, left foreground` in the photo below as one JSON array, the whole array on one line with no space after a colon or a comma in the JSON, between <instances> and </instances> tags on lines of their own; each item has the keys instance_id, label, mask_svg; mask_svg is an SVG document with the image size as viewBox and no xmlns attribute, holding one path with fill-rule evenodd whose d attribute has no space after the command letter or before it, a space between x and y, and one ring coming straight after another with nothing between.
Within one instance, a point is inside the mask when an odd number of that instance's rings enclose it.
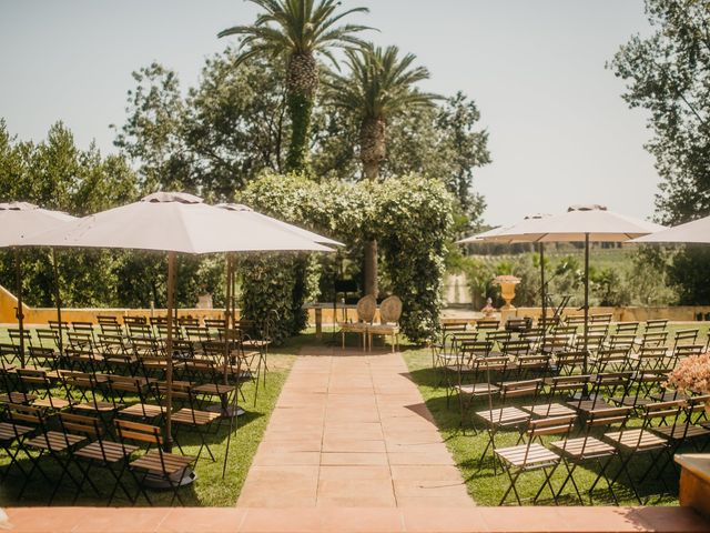
<instances>
[{"instance_id":1,"label":"large white patio umbrella with wooden pole, left foreground","mask_svg":"<svg viewBox=\"0 0 710 533\"><path fill-rule=\"evenodd\" d=\"M165 450L172 449L172 324L175 254L264 251L331 252L332 249L253 218L235 224L232 212L179 192L156 192L28 239L28 245L110 248L168 252L168 353Z\"/></svg>"}]
</instances>

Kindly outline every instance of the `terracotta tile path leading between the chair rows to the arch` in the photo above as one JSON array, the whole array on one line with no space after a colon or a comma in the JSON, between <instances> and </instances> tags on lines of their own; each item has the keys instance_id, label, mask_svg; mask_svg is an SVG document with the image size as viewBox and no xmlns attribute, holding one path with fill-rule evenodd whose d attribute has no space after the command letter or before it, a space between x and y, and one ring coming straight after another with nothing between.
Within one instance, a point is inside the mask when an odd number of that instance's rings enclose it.
<instances>
[{"instance_id":1,"label":"terracotta tile path leading between the chair rows to the arch","mask_svg":"<svg viewBox=\"0 0 710 533\"><path fill-rule=\"evenodd\" d=\"M296 361L240 507L470 507L398 353L313 349Z\"/></svg>"}]
</instances>

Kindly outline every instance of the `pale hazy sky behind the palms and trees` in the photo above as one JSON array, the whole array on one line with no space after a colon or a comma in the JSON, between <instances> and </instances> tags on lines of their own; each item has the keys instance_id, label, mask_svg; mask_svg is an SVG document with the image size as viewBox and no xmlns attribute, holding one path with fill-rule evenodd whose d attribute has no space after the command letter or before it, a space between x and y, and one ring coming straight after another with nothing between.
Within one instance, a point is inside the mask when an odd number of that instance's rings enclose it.
<instances>
[{"instance_id":1,"label":"pale hazy sky behind the palms and trees","mask_svg":"<svg viewBox=\"0 0 710 533\"><path fill-rule=\"evenodd\" d=\"M602 203L647 218L659 178L642 144L643 111L621 100L605 69L633 33L648 33L641 0L344 0L371 38L415 53L425 89L463 90L481 112L494 162L477 172L486 221ZM197 82L216 32L248 23L243 0L0 0L0 117L40 140L63 120L80 145L113 151L131 71L156 60Z\"/></svg>"}]
</instances>

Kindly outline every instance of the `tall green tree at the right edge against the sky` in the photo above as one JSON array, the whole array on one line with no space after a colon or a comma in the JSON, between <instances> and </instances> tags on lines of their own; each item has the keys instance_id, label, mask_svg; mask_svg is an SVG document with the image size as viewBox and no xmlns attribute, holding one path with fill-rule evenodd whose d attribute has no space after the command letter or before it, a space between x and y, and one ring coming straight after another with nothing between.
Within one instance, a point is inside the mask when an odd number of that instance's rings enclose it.
<instances>
[{"instance_id":1,"label":"tall green tree at the right edge against the sky","mask_svg":"<svg viewBox=\"0 0 710 533\"><path fill-rule=\"evenodd\" d=\"M629 107L649 111L653 138L646 149L662 179L658 219L676 224L710 214L710 2L646 0L646 13L653 33L632 37L610 67L627 82ZM674 257L668 274L680 301L710 301L690 274L709 266L708 254L697 249Z\"/></svg>"}]
</instances>

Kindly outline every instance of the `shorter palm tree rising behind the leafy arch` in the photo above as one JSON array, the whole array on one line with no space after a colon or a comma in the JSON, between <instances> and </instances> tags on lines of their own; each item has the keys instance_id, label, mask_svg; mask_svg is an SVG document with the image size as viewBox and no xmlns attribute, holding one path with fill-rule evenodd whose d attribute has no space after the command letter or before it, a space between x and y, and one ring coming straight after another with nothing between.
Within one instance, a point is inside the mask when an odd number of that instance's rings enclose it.
<instances>
[{"instance_id":1,"label":"shorter palm tree rising behind the leafy arch","mask_svg":"<svg viewBox=\"0 0 710 533\"><path fill-rule=\"evenodd\" d=\"M436 94L414 86L429 78L424 67L413 67L416 56L399 57L397 47L382 49L372 43L346 50L351 73L332 73L328 99L359 121L359 159L364 178L379 178L387 154L387 120L418 107L432 107ZM365 293L377 295L377 241L365 243Z\"/></svg>"}]
</instances>

